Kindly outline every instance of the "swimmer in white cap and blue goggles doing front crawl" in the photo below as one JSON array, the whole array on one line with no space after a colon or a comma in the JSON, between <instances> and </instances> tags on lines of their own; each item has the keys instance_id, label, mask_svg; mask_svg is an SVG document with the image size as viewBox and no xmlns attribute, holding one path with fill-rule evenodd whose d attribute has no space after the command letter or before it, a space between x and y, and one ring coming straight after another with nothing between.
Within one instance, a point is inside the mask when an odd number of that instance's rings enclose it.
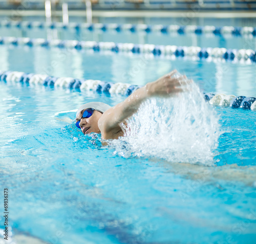
<instances>
[{"instance_id":1,"label":"swimmer in white cap and blue goggles doing front crawl","mask_svg":"<svg viewBox=\"0 0 256 244\"><path fill-rule=\"evenodd\" d=\"M176 70L147 83L114 107L102 102L81 105L76 113L76 126L84 135L101 133L102 139L105 140L124 136L120 124L135 114L147 98L170 97L184 91L186 76L175 77L175 73Z\"/></svg>"}]
</instances>

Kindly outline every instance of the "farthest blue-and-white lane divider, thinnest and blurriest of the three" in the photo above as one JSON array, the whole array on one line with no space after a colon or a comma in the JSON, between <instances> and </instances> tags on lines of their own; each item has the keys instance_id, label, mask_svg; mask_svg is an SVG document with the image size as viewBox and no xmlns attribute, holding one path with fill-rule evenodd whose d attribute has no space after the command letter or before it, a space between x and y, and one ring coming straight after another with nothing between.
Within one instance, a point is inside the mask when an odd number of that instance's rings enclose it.
<instances>
[{"instance_id":1,"label":"farthest blue-and-white lane divider, thinnest and blurriest of the three","mask_svg":"<svg viewBox=\"0 0 256 244\"><path fill-rule=\"evenodd\" d=\"M216 26L196 26L196 25L187 25L187 26L180 26L180 25L146 25L146 24L102 24L102 23L70 23L70 24L63 24L62 22L52 22L52 23L45 23L39 21L7 21L2 20L0 21L0 27L5 28L17 28L17 29L74 29L76 31L79 30L88 30L93 32L95 30L101 32L108 32L108 31L115 31L119 32L143 32L145 34L148 33L161 33L161 34L170 34L170 33L177 33L179 35L184 34L196 34L196 35L203 35L203 34L213 34L216 36L225 36L225 35L232 35L232 36L252 36L256 37L256 27L233 27L233 26L223 26L223 27L216 27Z\"/></svg>"}]
</instances>

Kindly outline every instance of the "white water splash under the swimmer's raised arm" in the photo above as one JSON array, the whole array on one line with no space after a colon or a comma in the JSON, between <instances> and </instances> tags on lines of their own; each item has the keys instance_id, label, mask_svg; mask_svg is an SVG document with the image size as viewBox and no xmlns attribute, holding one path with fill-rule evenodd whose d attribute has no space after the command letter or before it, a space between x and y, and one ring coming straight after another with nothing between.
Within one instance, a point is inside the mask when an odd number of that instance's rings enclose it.
<instances>
[{"instance_id":1,"label":"white water splash under the swimmer's raised arm","mask_svg":"<svg viewBox=\"0 0 256 244\"><path fill-rule=\"evenodd\" d=\"M199 87L186 83L188 91L176 97L146 100L127 126L122 125L125 137L109 141L114 153L124 158L212 165L212 151L220 135L219 118Z\"/></svg>"}]
</instances>

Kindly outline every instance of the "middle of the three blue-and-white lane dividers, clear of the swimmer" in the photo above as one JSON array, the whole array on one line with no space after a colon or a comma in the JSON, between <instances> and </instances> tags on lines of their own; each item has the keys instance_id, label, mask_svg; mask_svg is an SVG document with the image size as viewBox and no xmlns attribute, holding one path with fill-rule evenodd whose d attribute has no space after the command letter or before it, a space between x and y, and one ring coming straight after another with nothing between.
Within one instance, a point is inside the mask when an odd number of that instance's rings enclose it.
<instances>
[{"instance_id":1,"label":"middle of the three blue-and-white lane dividers, clear of the swimmer","mask_svg":"<svg viewBox=\"0 0 256 244\"><path fill-rule=\"evenodd\" d=\"M252 49L225 49L225 48L200 48L179 47L171 45L77 41L77 40L47 40L43 38L28 37L0 37L0 45L25 45L41 47L69 48L77 50L112 51L114 53L153 54L165 57L187 57L191 59L205 59L207 61L233 61L255 63L256 51Z\"/></svg>"}]
</instances>

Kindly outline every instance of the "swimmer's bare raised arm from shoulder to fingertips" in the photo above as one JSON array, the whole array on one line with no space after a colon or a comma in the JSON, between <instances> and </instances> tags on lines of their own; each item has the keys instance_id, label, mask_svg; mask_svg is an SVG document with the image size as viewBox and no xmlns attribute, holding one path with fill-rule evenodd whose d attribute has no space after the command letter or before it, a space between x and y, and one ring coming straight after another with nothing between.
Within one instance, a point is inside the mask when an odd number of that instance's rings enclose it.
<instances>
[{"instance_id":1,"label":"swimmer's bare raised arm from shoulder to fingertips","mask_svg":"<svg viewBox=\"0 0 256 244\"><path fill-rule=\"evenodd\" d=\"M179 78L173 75L174 70L154 82L147 83L136 90L123 102L106 110L98 121L98 127L103 139L117 139L123 136L120 123L135 114L143 101L150 97L168 97L183 91L184 76Z\"/></svg>"}]
</instances>

